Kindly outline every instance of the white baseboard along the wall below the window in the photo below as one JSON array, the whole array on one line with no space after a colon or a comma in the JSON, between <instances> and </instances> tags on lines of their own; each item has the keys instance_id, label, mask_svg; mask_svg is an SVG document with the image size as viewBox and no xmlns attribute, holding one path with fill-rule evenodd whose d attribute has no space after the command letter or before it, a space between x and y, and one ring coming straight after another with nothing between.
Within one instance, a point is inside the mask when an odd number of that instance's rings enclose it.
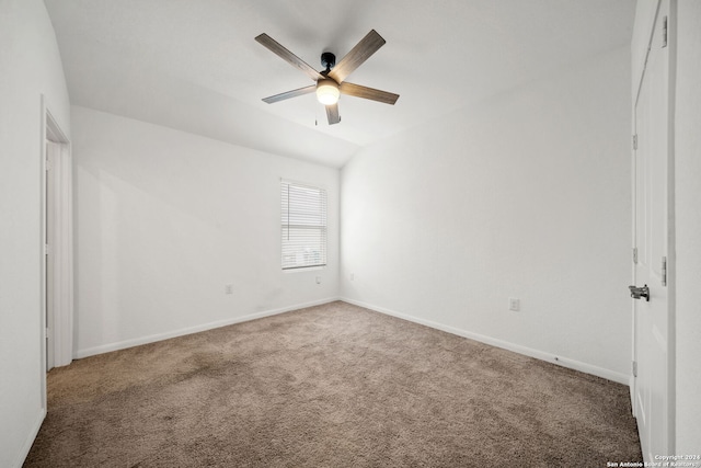
<instances>
[{"instance_id":1,"label":"white baseboard along the wall below the window","mask_svg":"<svg viewBox=\"0 0 701 468\"><path fill-rule=\"evenodd\" d=\"M125 350L127 347L138 346L141 344L153 343L157 341L168 340L170 338L183 336L185 334L198 333L200 331L211 330L220 327L227 327L234 323L248 322L250 320L261 319L263 317L276 316L278 313L289 312L290 310L303 309L306 307L320 306L322 304L333 303L340 300L338 297L330 297L320 300L313 300L311 303L296 304L294 306L286 306L278 309L265 310L262 312L249 313L243 317L235 317L226 320L219 320L216 322L203 323L195 327L188 327L180 330L173 330L164 333L150 334L147 336L134 338L130 340L124 340L116 343L103 344L100 346L87 347L84 350L78 350L74 358L80 359L82 357L94 356L96 354L108 353L111 351Z\"/></svg>"}]
</instances>

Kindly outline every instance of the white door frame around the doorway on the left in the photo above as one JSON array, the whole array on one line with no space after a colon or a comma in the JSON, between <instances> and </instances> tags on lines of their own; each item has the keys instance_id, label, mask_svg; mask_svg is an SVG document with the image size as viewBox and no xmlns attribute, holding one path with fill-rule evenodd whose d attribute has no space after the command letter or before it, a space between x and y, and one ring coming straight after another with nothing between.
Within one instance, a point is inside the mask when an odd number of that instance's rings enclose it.
<instances>
[{"instance_id":1,"label":"white door frame around the doorway on the left","mask_svg":"<svg viewBox=\"0 0 701 468\"><path fill-rule=\"evenodd\" d=\"M39 246L42 252L42 311L41 311L41 341L42 341L42 383L44 408L46 408L46 305L51 301L54 306L54 361L56 366L65 366L71 363L73 357L73 203L72 203L72 156L70 140L60 128L56 118L51 115L46 104L46 99L41 99L41 186L42 186L42 236ZM59 145L59 155L54 164L54 193L56 215L53 239L46 239L46 178L47 178L47 151L46 141L50 140ZM47 262L45 255L45 239L50 244L54 255L54 294L47 297L46 273Z\"/></svg>"}]
</instances>

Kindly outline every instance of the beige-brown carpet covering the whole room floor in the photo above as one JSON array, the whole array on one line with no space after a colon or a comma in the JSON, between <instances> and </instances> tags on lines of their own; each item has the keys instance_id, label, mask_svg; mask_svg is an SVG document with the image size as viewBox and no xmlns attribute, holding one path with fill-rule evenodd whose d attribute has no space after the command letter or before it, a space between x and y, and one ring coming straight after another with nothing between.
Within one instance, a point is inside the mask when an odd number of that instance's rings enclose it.
<instances>
[{"instance_id":1,"label":"beige-brown carpet covering the whole room floor","mask_svg":"<svg viewBox=\"0 0 701 468\"><path fill-rule=\"evenodd\" d=\"M48 375L26 467L606 467L625 386L345 303Z\"/></svg>"}]
</instances>

